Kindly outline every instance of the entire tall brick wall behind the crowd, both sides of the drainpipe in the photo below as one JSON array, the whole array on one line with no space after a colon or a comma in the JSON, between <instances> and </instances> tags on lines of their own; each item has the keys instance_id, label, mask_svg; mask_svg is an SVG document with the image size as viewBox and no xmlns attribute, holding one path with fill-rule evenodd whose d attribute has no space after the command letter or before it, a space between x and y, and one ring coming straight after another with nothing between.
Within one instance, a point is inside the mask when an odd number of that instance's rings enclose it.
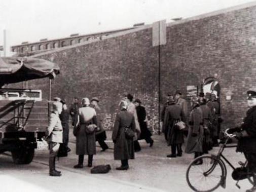
<instances>
[{"instance_id":1,"label":"entire tall brick wall behind the crowd, both sides of the drainpipe","mask_svg":"<svg viewBox=\"0 0 256 192\"><path fill-rule=\"evenodd\" d=\"M166 94L187 86L200 87L203 79L218 74L221 86L222 127L241 123L247 110L246 91L256 90L256 7L170 23L167 44L160 48L160 103ZM158 129L158 47L152 47L152 28L143 28L102 41L38 56L60 65L52 97L100 99L104 126L111 128L124 93L140 98ZM43 89L36 80L30 88ZM231 96L227 100L226 96Z\"/></svg>"}]
</instances>

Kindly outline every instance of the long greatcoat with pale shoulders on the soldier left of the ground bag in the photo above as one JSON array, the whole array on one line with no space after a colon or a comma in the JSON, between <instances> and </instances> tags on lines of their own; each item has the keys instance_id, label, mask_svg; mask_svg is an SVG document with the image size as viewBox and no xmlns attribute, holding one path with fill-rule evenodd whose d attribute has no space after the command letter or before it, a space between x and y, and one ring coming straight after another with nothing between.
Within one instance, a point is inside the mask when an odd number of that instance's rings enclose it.
<instances>
[{"instance_id":1,"label":"long greatcoat with pale shoulders on the soldier left of the ground bag","mask_svg":"<svg viewBox=\"0 0 256 192\"><path fill-rule=\"evenodd\" d=\"M87 134L86 126L89 124L97 125L96 111L94 108L86 106L79 108L79 129L77 133L76 153L77 155L96 154L95 131ZM90 118L87 118L87 117Z\"/></svg>"}]
</instances>

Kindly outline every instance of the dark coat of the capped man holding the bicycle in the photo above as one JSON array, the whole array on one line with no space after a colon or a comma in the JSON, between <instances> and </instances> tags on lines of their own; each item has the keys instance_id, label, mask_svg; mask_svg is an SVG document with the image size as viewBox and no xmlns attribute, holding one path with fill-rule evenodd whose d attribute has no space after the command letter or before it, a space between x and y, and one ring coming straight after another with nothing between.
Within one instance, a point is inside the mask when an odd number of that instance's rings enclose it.
<instances>
[{"instance_id":1,"label":"dark coat of the capped man holding the bicycle","mask_svg":"<svg viewBox=\"0 0 256 192\"><path fill-rule=\"evenodd\" d=\"M237 151L245 153L256 153L256 106L246 112L246 117L240 127L241 131L245 130L249 137L239 139Z\"/></svg>"}]
</instances>

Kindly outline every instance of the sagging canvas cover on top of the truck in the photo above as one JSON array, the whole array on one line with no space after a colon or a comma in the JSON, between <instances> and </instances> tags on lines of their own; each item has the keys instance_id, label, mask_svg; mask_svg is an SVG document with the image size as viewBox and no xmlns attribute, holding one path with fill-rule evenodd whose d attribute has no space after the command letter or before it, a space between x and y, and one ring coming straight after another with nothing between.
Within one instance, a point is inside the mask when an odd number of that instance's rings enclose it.
<instances>
[{"instance_id":1,"label":"sagging canvas cover on top of the truck","mask_svg":"<svg viewBox=\"0 0 256 192\"><path fill-rule=\"evenodd\" d=\"M0 57L0 87L59 74L56 63L38 58Z\"/></svg>"}]
</instances>

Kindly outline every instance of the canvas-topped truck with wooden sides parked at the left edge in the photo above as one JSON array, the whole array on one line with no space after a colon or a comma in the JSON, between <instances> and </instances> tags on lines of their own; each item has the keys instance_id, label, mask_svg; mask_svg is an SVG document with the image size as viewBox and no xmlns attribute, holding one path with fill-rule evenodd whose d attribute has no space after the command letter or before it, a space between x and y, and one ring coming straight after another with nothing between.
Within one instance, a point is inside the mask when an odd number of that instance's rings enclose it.
<instances>
[{"instance_id":1,"label":"canvas-topped truck with wooden sides parked at the left edge","mask_svg":"<svg viewBox=\"0 0 256 192\"><path fill-rule=\"evenodd\" d=\"M0 153L10 151L15 164L31 163L34 150L42 148L50 99L43 99L41 90L9 86L41 78L51 81L59 71L56 63L44 59L0 57Z\"/></svg>"}]
</instances>

